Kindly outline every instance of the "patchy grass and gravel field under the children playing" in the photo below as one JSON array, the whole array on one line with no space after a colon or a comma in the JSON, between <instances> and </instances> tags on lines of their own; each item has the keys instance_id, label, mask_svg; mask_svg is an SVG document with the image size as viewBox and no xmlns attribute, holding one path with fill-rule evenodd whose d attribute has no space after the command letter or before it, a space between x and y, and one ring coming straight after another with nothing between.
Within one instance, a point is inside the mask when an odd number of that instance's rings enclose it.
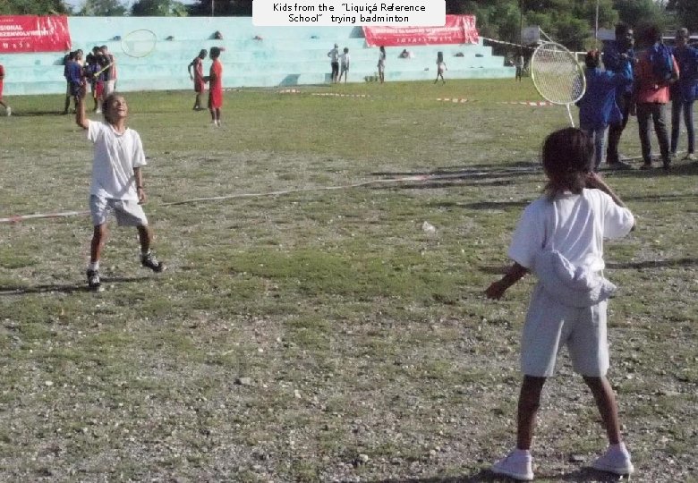
<instances>
[{"instance_id":1,"label":"patchy grass and gravel field under the children playing","mask_svg":"<svg viewBox=\"0 0 698 483\"><path fill-rule=\"evenodd\" d=\"M514 80L242 89L217 129L191 93L128 94L169 269L141 268L112 224L88 292L88 216L0 225L0 480L496 480L533 280L481 294L567 123L506 104L537 99ZM91 146L63 99L6 100L0 217L87 210ZM622 152L639 150L633 119ZM698 480L696 175L605 174L638 220L606 246L636 481ZM589 469L603 435L564 355L538 480L609 480Z\"/></svg>"}]
</instances>

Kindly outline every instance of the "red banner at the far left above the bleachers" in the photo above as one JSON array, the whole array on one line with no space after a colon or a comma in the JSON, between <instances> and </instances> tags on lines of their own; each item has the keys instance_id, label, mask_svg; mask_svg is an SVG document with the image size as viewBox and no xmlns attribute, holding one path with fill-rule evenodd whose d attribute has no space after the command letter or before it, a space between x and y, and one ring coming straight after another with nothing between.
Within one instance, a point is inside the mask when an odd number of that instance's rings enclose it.
<instances>
[{"instance_id":1,"label":"red banner at the far left above the bleachers","mask_svg":"<svg viewBox=\"0 0 698 483\"><path fill-rule=\"evenodd\" d=\"M0 53L64 52L71 48L64 15L0 15Z\"/></svg>"}]
</instances>

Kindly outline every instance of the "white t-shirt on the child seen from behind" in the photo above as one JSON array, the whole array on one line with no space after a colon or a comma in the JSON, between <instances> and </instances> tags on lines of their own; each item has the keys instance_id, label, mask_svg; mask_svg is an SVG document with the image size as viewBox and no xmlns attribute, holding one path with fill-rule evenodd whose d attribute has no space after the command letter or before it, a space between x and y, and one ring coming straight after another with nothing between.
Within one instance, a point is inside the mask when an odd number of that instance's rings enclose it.
<instances>
[{"instance_id":1,"label":"white t-shirt on the child seen from behind","mask_svg":"<svg viewBox=\"0 0 698 483\"><path fill-rule=\"evenodd\" d=\"M531 268L536 253L558 250L575 267L599 271L603 239L620 238L634 225L633 214L620 208L600 190L558 195L554 201L541 197L524 209L509 247L509 257Z\"/></svg>"}]
</instances>

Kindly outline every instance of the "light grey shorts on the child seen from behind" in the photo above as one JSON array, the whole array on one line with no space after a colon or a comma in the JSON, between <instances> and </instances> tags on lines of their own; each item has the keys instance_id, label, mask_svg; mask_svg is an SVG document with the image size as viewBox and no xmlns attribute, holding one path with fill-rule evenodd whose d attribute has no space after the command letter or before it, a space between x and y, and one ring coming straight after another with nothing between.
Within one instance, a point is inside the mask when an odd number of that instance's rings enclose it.
<instances>
[{"instance_id":1,"label":"light grey shorts on the child seen from behind","mask_svg":"<svg viewBox=\"0 0 698 483\"><path fill-rule=\"evenodd\" d=\"M553 376L558 352L566 345L575 372L605 376L609 370L607 305L607 301L582 309L563 305L537 284L521 341L522 372L526 376Z\"/></svg>"}]
</instances>

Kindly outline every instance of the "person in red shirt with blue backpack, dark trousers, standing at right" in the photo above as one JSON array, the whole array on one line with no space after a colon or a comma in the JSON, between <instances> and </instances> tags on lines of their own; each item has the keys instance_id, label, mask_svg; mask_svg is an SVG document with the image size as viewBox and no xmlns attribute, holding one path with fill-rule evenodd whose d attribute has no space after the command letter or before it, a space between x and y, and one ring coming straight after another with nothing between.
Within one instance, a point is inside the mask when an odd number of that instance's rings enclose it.
<instances>
[{"instance_id":1,"label":"person in red shirt with blue backpack, dark trousers, standing at right","mask_svg":"<svg viewBox=\"0 0 698 483\"><path fill-rule=\"evenodd\" d=\"M678 79L678 65L671 55L673 72L670 78L660 79L652 65L652 55L656 55L661 47L661 32L657 26L645 29L640 37L643 51L637 57L635 66L634 101L637 105L637 124L640 130L640 145L643 151L641 169L652 167L650 119L654 123L654 131L660 143L661 162L665 170L671 165L669 157L669 137L667 118L669 109L669 86Z\"/></svg>"}]
</instances>

